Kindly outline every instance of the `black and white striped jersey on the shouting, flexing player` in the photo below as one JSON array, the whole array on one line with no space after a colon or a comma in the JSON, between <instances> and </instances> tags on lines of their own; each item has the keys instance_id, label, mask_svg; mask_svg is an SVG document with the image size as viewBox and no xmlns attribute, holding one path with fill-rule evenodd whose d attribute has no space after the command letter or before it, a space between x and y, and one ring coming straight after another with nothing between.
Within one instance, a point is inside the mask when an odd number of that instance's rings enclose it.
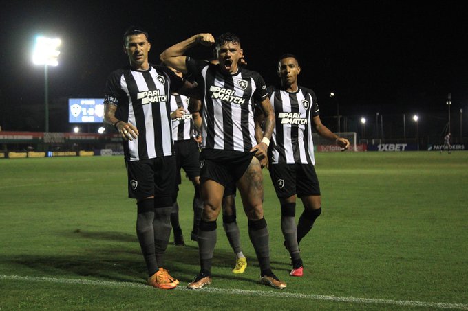
<instances>
[{"instance_id":1,"label":"black and white striped jersey on the shouting, flexing player","mask_svg":"<svg viewBox=\"0 0 468 311\"><path fill-rule=\"evenodd\" d=\"M266 96L259 73L240 67L232 75L203 60L187 57L187 68L202 91L202 148L248 152L257 145L254 103Z\"/></svg>"}]
</instances>

